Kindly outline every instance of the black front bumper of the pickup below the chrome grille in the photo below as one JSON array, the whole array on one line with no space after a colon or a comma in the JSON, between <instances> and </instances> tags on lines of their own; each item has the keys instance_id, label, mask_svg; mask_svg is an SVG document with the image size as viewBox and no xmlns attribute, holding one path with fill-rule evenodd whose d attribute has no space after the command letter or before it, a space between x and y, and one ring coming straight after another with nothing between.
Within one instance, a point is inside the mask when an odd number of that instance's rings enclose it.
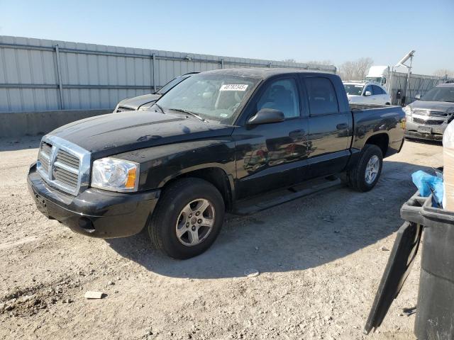
<instances>
[{"instance_id":1,"label":"black front bumper of the pickup below the chrome grille","mask_svg":"<svg viewBox=\"0 0 454 340\"><path fill-rule=\"evenodd\" d=\"M114 193L96 188L72 196L48 186L36 171L36 164L30 167L27 182L38 210L45 216L74 232L104 239L140 232L160 196L160 190Z\"/></svg>"}]
</instances>

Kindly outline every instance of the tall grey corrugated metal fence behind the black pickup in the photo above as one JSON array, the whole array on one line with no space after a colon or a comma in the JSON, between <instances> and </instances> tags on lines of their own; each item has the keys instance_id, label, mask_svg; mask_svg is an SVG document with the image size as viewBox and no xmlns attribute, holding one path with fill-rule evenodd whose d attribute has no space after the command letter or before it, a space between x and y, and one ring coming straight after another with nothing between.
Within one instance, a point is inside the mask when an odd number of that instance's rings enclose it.
<instances>
[{"instance_id":1,"label":"tall grey corrugated metal fence behind the black pickup","mask_svg":"<svg viewBox=\"0 0 454 340\"><path fill-rule=\"evenodd\" d=\"M231 67L336 72L329 65L197 55L0 35L0 112L114 108L180 74Z\"/></svg>"}]
</instances>

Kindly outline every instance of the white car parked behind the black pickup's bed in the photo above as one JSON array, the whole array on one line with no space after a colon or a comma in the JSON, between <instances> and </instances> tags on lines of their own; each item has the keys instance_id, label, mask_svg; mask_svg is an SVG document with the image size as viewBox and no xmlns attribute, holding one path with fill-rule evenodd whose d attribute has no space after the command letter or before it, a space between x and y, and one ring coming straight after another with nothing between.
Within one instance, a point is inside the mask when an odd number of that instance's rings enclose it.
<instances>
[{"instance_id":1,"label":"white car parked behind the black pickup's bed","mask_svg":"<svg viewBox=\"0 0 454 340\"><path fill-rule=\"evenodd\" d=\"M374 81L344 81L343 86L350 103L391 105L391 96Z\"/></svg>"}]
</instances>

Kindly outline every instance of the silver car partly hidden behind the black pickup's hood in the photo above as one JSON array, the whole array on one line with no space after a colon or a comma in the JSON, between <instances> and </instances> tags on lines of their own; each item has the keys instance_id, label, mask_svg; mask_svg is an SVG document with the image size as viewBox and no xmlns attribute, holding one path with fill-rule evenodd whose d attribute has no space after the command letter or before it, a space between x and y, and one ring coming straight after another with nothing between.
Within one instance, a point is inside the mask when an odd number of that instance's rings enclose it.
<instances>
[{"instance_id":1,"label":"silver car partly hidden behind the black pickup's hood","mask_svg":"<svg viewBox=\"0 0 454 340\"><path fill-rule=\"evenodd\" d=\"M159 90L157 90L154 94L144 94L142 96L123 99L123 101L120 101L116 105L114 113L123 111L148 110L148 108L153 106L157 99L164 96L168 91L170 91L170 89L173 89L175 86L177 86L177 84L191 77L192 74L197 73L199 72L190 72L187 74L182 74L181 76L178 76L177 78L174 78L171 81L169 81Z\"/></svg>"}]
</instances>

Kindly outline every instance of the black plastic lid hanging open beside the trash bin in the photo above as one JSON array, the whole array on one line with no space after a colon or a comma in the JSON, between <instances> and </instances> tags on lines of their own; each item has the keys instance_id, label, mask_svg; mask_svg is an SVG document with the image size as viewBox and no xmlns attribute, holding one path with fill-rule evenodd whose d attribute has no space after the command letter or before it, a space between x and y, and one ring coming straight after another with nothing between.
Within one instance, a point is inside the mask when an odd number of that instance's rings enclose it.
<instances>
[{"instance_id":1,"label":"black plastic lid hanging open beside the trash bin","mask_svg":"<svg viewBox=\"0 0 454 340\"><path fill-rule=\"evenodd\" d=\"M414 222L404 222L399 228L363 330L364 334L380 327L392 301L399 295L418 252L422 231L423 226Z\"/></svg>"}]
</instances>

